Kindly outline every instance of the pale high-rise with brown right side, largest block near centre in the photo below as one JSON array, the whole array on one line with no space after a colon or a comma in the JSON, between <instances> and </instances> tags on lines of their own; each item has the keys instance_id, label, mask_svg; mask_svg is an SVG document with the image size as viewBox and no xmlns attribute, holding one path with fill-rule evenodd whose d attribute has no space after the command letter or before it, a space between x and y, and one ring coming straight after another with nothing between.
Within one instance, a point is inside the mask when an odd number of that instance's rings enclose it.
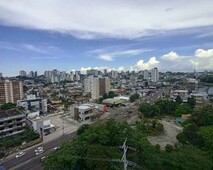
<instances>
[{"instance_id":1,"label":"pale high-rise with brown right side, largest block near centre","mask_svg":"<svg viewBox=\"0 0 213 170\"><path fill-rule=\"evenodd\" d=\"M108 77L88 77L84 79L84 91L91 93L92 99L98 99L104 93L110 91L110 80Z\"/></svg>"}]
</instances>

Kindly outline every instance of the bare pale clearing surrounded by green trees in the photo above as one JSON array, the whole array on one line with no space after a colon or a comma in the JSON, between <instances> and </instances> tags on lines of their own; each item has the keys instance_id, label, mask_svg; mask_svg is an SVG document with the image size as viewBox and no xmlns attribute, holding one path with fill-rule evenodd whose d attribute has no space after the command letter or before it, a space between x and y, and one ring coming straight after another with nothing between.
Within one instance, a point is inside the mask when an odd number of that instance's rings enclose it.
<instances>
[{"instance_id":1,"label":"bare pale clearing surrounded by green trees","mask_svg":"<svg viewBox=\"0 0 213 170\"><path fill-rule=\"evenodd\" d=\"M182 127L175 123L172 117L165 117L160 120L164 126L164 132L158 136L150 136L148 140L153 144L159 144L161 148L165 148L167 144L174 145L178 143L176 135L182 131Z\"/></svg>"}]
</instances>

